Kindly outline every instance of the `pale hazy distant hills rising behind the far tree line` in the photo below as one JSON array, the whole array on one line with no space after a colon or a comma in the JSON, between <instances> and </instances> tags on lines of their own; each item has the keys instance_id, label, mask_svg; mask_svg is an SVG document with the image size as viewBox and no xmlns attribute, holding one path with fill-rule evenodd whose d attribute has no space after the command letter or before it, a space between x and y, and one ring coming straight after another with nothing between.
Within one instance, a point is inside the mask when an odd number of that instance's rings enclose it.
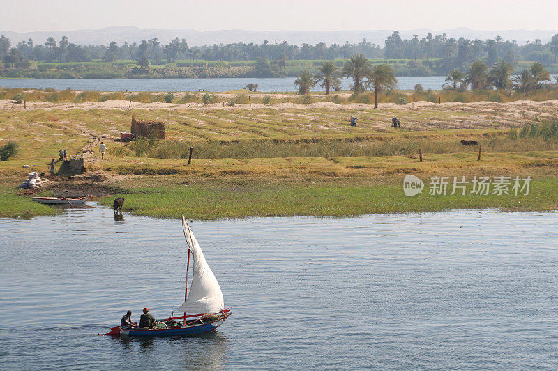
<instances>
[{"instance_id":1,"label":"pale hazy distant hills rising behind the far tree line","mask_svg":"<svg viewBox=\"0 0 558 371\"><path fill-rule=\"evenodd\" d=\"M138 27L107 27L103 29L82 29L75 31L34 31L34 32L13 32L0 31L0 35L10 38L12 45L22 40L32 38L36 43L44 43L46 38L52 36L56 40L60 40L62 36L68 36L70 42L77 45L108 45L112 41L121 44L124 41L141 42L157 37L160 42L168 43L169 40L178 36L185 38L188 45L213 45L227 44L231 42L255 42L261 43L268 40L270 43L287 41L289 44L301 45L303 42L308 44L317 44L318 42L326 42L326 44L338 43L345 41L360 42L363 38L377 45L384 45L384 40L391 35L393 30L363 30L363 31L246 31L246 30L220 30L220 31L196 31L193 29L140 29ZM552 35L558 33L558 30L496 30L496 31L477 31L467 28L429 30L415 29L400 31L402 38L412 38L412 35L418 34L422 38L428 32L434 35L446 33L450 38L460 38L461 36L468 39L495 38L501 35L505 40L517 40L522 45L525 41L533 41L536 38L541 39L543 43L548 42Z\"/></svg>"}]
</instances>

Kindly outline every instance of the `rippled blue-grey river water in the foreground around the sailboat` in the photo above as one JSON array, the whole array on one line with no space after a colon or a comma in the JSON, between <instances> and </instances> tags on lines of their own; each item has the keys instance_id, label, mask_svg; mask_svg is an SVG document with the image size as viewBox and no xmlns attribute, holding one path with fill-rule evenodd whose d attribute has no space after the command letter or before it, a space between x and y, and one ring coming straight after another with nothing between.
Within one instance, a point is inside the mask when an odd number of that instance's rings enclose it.
<instances>
[{"instance_id":1,"label":"rippled blue-grey river water in the foreground around the sailboat","mask_svg":"<svg viewBox=\"0 0 558 371\"><path fill-rule=\"evenodd\" d=\"M115 221L95 204L0 219L0 365L556 370L557 216L193 221L233 314L213 333L143 340L98 333L128 309L137 321L181 303L179 221Z\"/></svg>"}]
</instances>

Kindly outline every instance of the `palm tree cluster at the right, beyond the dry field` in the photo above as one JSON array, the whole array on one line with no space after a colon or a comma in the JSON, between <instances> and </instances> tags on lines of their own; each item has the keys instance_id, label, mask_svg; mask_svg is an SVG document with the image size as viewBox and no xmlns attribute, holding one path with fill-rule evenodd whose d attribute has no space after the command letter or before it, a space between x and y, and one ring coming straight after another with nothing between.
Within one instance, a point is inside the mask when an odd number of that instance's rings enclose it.
<instances>
[{"instance_id":1,"label":"palm tree cluster at the right, beyond the dry field","mask_svg":"<svg viewBox=\"0 0 558 371\"><path fill-rule=\"evenodd\" d=\"M511 77L513 65L506 61L494 63L489 69L488 65L477 59L465 74L458 68L451 70L446 77L444 88L457 90L469 86L472 90L492 89L509 90L510 93L529 93L531 90L541 88L543 81L550 81L550 74L540 62L534 62L529 68L525 68L518 74ZM558 81L558 80L557 80Z\"/></svg>"}]
</instances>

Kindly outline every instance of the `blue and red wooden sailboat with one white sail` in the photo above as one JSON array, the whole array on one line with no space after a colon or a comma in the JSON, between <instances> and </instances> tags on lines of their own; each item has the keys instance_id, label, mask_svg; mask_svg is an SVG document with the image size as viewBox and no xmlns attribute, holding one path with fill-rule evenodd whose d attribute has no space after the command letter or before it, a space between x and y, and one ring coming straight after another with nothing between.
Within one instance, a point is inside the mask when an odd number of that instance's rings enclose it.
<instances>
[{"instance_id":1,"label":"blue and red wooden sailboat with one white sail","mask_svg":"<svg viewBox=\"0 0 558 371\"><path fill-rule=\"evenodd\" d=\"M197 239L190 230L184 215L182 229L188 244L188 262L186 263L186 288L184 303L172 311L169 318L160 319L153 329L126 326L112 327L106 335L114 336L182 336L195 335L213 331L232 314L231 308L225 308L223 293L213 272L199 247ZM190 271L190 254L193 258L192 284L188 292L188 272ZM174 313L183 313L175 317Z\"/></svg>"}]
</instances>

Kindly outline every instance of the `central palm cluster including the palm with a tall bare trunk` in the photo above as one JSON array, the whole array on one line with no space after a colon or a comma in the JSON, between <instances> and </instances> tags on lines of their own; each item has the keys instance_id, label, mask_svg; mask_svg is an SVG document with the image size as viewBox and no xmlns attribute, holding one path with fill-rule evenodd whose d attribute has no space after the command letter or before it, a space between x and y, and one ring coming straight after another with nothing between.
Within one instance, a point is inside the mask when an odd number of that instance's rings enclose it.
<instances>
[{"instance_id":1,"label":"central palm cluster including the palm with a tall bare trunk","mask_svg":"<svg viewBox=\"0 0 558 371\"><path fill-rule=\"evenodd\" d=\"M319 86L326 89L326 94L330 90L338 90L341 86L341 76L352 77L355 93L361 93L366 89L373 90L375 96L374 107L378 106L378 94L382 90L393 89L397 86L397 79L393 69L386 64L372 66L364 54L355 54L343 66L342 72L333 61L327 61L319 68L318 74L312 78L310 72L305 71L299 74L294 81L299 86L300 94L308 94L310 88L319 83Z\"/></svg>"}]
</instances>

